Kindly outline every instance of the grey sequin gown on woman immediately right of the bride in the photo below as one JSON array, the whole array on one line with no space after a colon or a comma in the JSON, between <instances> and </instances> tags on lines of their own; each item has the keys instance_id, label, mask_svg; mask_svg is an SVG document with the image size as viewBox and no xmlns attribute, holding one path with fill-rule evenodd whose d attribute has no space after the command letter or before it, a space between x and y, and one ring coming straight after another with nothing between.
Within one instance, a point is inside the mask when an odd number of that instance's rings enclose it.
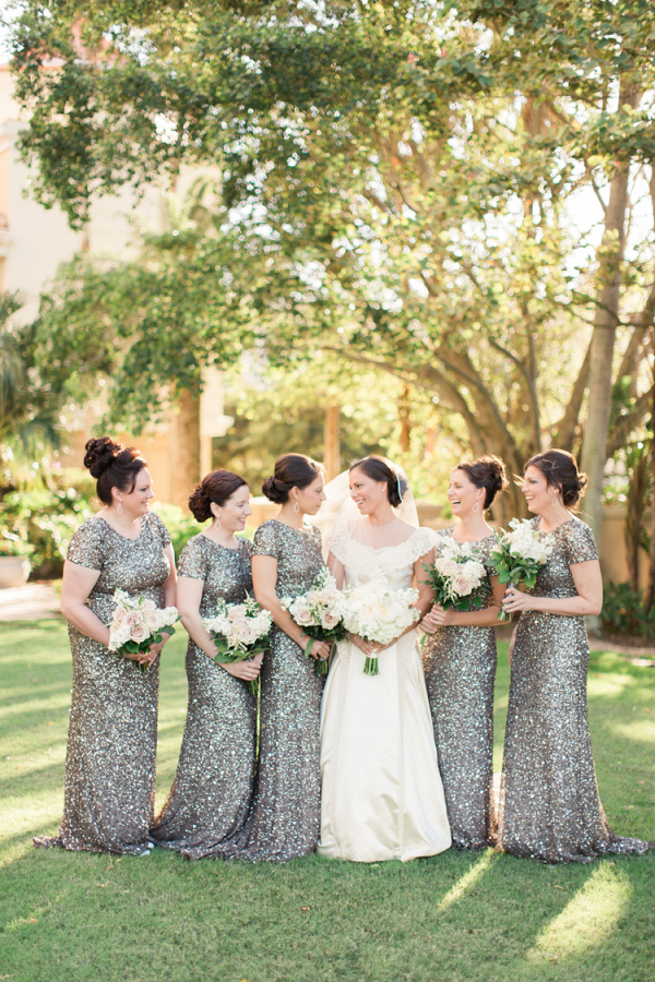
<instances>
[{"instance_id":1,"label":"grey sequin gown on woman immediately right of the bride","mask_svg":"<svg viewBox=\"0 0 655 982\"><path fill-rule=\"evenodd\" d=\"M452 537L453 529L440 535ZM473 544L489 560L495 537ZM491 584L487 578L489 590ZM491 592L485 607L493 604ZM493 681L498 652L493 627L440 627L422 648L453 846L491 845L493 814Z\"/></svg>"}]
</instances>

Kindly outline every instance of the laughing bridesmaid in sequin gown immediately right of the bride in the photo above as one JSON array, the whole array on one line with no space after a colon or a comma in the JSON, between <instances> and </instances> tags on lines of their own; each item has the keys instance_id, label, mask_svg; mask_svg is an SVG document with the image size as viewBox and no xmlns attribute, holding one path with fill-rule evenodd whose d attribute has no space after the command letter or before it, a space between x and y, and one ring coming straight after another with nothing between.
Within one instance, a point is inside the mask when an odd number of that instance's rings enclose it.
<instances>
[{"instance_id":1,"label":"laughing bridesmaid in sequin gown immediately right of the bride","mask_svg":"<svg viewBox=\"0 0 655 982\"><path fill-rule=\"evenodd\" d=\"M474 542L485 560L495 543L485 512L507 488L504 465L493 456L453 470L448 499L460 524L440 535L456 542ZM437 552L439 546L437 546ZM479 849L491 845L493 815L493 625L504 595L498 579L481 610L443 610L436 604L421 623L430 634L424 644L424 667L439 770L453 846Z\"/></svg>"}]
</instances>

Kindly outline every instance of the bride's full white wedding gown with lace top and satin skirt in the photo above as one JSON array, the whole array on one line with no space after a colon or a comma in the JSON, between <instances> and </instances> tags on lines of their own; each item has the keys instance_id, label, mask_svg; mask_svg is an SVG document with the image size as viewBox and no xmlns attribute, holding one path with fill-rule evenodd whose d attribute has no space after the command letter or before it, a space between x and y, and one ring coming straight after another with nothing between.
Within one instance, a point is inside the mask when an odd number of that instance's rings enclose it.
<instances>
[{"instance_id":1,"label":"bride's full white wedding gown with lace top and satin skirt","mask_svg":"<svg viewBox=\"0 0 655 982\"><path fill-rule=\"evenodd\" d=\"M356 541L345 524L330 540L346 585L380 567L395 590L412 586L414 563L431 547L424 528L382 549ZM373 863L443 852L451 834L416 631L382 651L378 675L365 675L364 663L341 642L323 693L319 853Z\"/></svg>"}]
</instances>

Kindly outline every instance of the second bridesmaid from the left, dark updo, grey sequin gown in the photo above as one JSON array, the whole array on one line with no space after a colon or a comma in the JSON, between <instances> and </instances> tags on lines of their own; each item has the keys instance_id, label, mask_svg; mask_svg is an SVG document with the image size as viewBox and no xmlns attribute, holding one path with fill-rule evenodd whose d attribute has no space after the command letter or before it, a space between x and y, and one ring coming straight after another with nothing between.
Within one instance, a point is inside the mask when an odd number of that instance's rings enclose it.
<instances>
[{"instance_id":1,"label":"second bridesmaid from the left, dark updo, grey sequin gown","mask_svg":"<svg viewBox=\"0 0 655 982\"><path fill-rule=\"evenodd\" d=\"M189 508L210 528L190 539L180 556L178 610L189 632L189 707L177 774L152 838L188 859L215 854L246 818L254 771L254 704L246 682L257 679L263 655L217 664L216 645L202 618L216 601L240 603L252 594L252 546L243 531L250 492L243 478L215 470L198 484Z\"/></svg>"}]
</instances>

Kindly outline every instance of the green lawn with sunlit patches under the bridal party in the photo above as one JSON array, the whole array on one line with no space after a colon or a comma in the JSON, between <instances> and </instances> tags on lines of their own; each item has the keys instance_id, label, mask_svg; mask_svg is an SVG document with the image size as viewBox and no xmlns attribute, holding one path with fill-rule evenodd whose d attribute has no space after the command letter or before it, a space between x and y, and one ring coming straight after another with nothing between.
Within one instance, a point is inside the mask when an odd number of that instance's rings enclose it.
<instances>
[{"instance_id":1,"label":"green lawn with sunlit patches under the bridal party","mask_svg":"<svg viewBox=\"0 0 655 982\"><path fill-rule=\"evenodd\" d=\"M497 769L508 671L498 678ZM0 635L0 980L652 982L655 854L550 867L485 851L284 866L35 850L62 807L70 654L59 621ZM655 670L593 655L590 716L611 825L655 839ZM183 637L163 671L158 803L186 711Z\"/></svg>"}]
</instances>

